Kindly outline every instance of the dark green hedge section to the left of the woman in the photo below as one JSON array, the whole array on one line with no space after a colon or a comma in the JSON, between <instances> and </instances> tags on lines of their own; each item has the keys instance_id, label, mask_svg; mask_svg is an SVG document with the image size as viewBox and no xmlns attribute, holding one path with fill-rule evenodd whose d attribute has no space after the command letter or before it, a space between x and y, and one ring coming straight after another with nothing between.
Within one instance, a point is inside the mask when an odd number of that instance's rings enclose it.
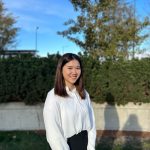
<instances>
[{"instance_id":1,"label":"dark green hedge section to the left of the woman","mask_svg":"<svg viewBox=\"0 0 150 150\"><path fill-rule=\"evenodd\" d=\"M53 87L59 56L8 58L0 61L0 102L44 102Z\"/></svg>"}]
</instances>

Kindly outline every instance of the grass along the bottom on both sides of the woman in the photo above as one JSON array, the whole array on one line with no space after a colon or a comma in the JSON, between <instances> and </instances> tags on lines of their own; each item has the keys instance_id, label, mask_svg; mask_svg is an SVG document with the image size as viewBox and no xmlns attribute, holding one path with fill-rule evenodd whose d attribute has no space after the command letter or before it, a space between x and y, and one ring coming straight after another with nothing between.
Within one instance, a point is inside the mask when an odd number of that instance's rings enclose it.
<instances>
[{"instance_id":1,"label":"grass along the bottom on both sides of the woman","mask_svg":"<svg viewBox=\"0 0 150 150\"><path fill-rule=\"evenodd\" d=\"M45 134L34 131L0 132L0 150L50 150ZM150 139L105 137L96 150L150 150Z\"/></svg>"}]
</instances>

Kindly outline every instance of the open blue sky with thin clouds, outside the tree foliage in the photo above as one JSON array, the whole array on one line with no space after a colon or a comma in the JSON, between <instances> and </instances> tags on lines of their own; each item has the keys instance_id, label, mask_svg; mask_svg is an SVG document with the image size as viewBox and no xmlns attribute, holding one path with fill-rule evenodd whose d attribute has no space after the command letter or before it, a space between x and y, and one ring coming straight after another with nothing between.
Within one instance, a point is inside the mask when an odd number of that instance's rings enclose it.
<instances>
[{"instance_id":1,"label":"open blue sky with thin clouds, outside the tree foliage","mask_svg":"<svg viewBox=\"0 0 150 150\"><path fill-rule=\"evenodd\" d=\"M135 1L139 17L150 14L150 0ZM69 0L3 0L3 2L8 11L16 17L16 26L20 28L15 49L35 49L37 33L37 49L40 56L58 51L60 54L80 51L74 43L57 35L57 31L66 28L63 23L76 16Z\"/></svg>"}]
</instances>

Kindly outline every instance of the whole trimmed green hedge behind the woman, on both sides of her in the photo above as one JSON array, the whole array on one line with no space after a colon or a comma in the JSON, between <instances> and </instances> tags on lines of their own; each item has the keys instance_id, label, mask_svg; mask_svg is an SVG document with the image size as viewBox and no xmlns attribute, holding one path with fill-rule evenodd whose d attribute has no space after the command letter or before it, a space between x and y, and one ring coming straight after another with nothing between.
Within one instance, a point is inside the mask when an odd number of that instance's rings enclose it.
<instances>
[{"instance_id":1,"label":"whole trimmed green hedge behind the woman, on both sides of her","mask_svg":"<svg viewBox=\"0 0 150 150\"><path fill-rule=\"evenodd\" d=\"M59 55L0 59L0 102L44 102L53 87ZM101 63L82 55L85 88L97 103L150 102L150 59Z\"/></svg>"}]
</instances>

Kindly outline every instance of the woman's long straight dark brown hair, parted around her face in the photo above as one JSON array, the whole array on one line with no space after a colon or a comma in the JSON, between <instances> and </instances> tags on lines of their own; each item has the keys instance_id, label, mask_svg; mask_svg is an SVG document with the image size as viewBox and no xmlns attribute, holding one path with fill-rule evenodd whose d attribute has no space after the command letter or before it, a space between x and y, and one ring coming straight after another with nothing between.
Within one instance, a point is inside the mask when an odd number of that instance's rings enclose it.
<instances>
[{"instance_id":1,"label":"woman's long straight dark brown hair, parted around her face","mask_svg":"<svg viewBox=\"0 0 150 150\"><path fill-rule=\"evenodd\" d=\"M83 68L82 63L78 55L72 53L64 54L58 61L57 69L56 69L56 76L55 76L55 85L54 85L54 92L56 95L66 97L68 96L65 88L64 77L62 74L63 66L70 62L71 60L77 60L80 64L81 74L78 80L75 82L75 87L81 97L81 99L85 99L85 90L83 85Z\"/></svg>"}]
</instances>

